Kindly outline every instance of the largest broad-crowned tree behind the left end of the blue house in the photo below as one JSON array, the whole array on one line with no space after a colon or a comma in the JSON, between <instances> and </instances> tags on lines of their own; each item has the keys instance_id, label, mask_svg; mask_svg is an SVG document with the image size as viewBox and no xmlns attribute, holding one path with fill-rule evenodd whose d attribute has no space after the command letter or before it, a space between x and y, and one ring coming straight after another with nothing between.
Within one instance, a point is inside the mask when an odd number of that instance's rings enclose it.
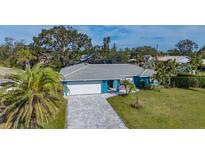
<instances>
[{"instance_id":1,"label":"largest broad-crowned tree behind the left end of the blue house","mask_svg":"<svg viewBox=\"0 0 205 154\"><path fill-rule=\"evenodd\" d=\"M69 64L70 54L88 50L91 47L91 39L70 26L43 29L37 37L33 37L31 44L31 48L37 52L57 52L54 59L60 61L61 67Z\"/></svg>"}]
</instances>

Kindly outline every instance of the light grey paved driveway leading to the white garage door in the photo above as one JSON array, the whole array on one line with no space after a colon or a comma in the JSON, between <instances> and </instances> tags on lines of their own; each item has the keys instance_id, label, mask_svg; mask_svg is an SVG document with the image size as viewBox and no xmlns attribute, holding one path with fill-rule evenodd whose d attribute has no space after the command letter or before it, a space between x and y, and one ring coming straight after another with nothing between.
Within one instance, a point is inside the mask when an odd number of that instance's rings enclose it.
<instances>
[{"instance_id":1,"label":"light grey paved driveway leading to the white garage door","mask_svg":"<svg viewBox=\"0 0 205 154\"><path fill-rule=\"evenodd\" d=\"M70 96L67 119L67 128L126 128L103 95Z\"/></svg>"}]
</instances>

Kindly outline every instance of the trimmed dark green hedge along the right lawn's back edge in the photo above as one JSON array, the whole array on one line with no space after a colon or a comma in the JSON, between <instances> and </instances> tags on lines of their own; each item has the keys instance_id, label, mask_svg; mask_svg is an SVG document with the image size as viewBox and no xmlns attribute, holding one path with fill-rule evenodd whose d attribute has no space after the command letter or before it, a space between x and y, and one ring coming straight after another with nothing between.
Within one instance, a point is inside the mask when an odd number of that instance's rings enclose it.
<instances>
[{"instance_id":1,"label":"trimmed dark green hedge along the right lawn's back edge","mask_svg":"<svg viewBox=\"0 0 205 154\"><path fill-rule=\"evenodd\" d=\"M205 88L205 77L173 77L171 87L177 88Z\"/></svg>"}]
</instances>

